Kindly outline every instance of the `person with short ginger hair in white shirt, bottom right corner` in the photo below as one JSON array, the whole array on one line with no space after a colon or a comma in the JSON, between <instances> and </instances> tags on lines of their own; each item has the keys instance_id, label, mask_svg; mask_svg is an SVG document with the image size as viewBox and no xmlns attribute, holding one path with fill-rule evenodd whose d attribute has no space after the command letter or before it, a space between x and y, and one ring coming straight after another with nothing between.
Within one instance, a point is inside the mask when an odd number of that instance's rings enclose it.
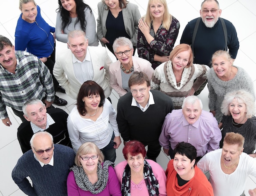
<instances>
[{"instance_id":1,"label":"person with short ginger hair in white shirt, bottom right corner","mask_svg":"<svg viewBox=\"0 0 256 196\"><path fill-rule=\"evenodd\" d=\"M203 171L209 171L214 196L245 196L245 182L249 175L256 177L256 160L243 152L245 138L234 132L227 133L222 149L214 150L198 162ZM253 196L254 190L249 194Z\"/></svg>"}]
</instances>

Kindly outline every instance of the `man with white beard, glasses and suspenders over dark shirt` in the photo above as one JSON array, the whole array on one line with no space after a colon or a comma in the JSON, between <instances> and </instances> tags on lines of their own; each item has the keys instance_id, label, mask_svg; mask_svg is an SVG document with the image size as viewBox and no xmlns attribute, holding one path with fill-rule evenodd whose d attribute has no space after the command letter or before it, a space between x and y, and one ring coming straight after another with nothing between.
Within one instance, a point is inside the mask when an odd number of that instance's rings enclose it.
<instances>
[{"instance_id":1,"label":"man with white beard, glasses and suspenders over dark shirt","mask_svg":"<svg viewBox=\"0 0 256 196\"><path fill-rule=\"evenodd\" d=\"M217 0L204 0L201 17L191 20L182 33L180 43L191 45L196 64L211 67L211 56L218 50L228 50L233 60L236 58L239 48L236 29L228 20L219 18L221 11ZM194 95L198 95L206 83Z\"/></svg>"}]
</instances>

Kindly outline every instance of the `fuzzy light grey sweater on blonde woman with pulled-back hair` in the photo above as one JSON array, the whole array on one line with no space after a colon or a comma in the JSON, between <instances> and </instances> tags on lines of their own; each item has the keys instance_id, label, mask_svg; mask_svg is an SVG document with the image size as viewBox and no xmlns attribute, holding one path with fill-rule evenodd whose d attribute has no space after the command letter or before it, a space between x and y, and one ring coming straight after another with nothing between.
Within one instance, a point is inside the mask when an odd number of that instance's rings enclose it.
<instances>
[{"instance_id":1,"label":"fuzzy light grey sweater on blonde woman with pulled-back hair","mask_svg":"<svg viewBox=\"0 0 256 196\"><path fill-rule=\"evenodd\" d=\"M229 81L223 81L218 78L213 68L211 68L210 71L207 73L207 79L209 83L209 109L216 111L215 118L217 119L218 123L222 119L223 115L221 113L220 107L224 96L228 92L244 89L250 92L255 97L252 79L243 68L236 68L238 69L236 76Z\"/></svg>"}]
</instances>

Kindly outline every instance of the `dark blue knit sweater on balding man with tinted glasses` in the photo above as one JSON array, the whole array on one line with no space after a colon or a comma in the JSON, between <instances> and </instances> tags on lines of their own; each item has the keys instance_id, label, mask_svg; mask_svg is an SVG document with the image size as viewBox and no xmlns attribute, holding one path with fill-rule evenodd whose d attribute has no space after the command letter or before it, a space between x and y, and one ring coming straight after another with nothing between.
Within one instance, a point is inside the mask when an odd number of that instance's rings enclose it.
<instances>
[{"instance_id":1,"label":"dark blue knit sweater on balding man with tinted glasses","mask_svg":"<svg viewBox=\"0 0 256 196\"><path fill-rule=\"evenodd\" d=\"M75 156L70 147L54 144L54 166L41 167L29 150L19 158L12 171L12 179L29 196L67 196L67 175L74 165Z\"/></svg>"}]
</instances>

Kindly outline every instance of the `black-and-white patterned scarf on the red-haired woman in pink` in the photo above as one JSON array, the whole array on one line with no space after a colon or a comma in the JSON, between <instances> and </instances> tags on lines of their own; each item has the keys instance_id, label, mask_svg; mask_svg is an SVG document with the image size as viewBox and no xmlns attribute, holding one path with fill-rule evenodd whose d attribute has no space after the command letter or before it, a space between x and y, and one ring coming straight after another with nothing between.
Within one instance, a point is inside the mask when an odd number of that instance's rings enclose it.
<instances>
[{"instance_id":1,"label":"black-and-white patterned scarf on the red-haired woman in pink","mask_svg":"<svg viewBox=\"0 0 256 196\"><path fill-rule=\"evenodd\" d=\"M155 175L153 174L151 166L146 160L144 160L144 180L148 189L149 196L158 196L159 195L159 184ZM131 186L131 169L127 164L124 168L123 178L122 178L122 196L130 196L130 186Z\"/></svg>"}]
</instances>

